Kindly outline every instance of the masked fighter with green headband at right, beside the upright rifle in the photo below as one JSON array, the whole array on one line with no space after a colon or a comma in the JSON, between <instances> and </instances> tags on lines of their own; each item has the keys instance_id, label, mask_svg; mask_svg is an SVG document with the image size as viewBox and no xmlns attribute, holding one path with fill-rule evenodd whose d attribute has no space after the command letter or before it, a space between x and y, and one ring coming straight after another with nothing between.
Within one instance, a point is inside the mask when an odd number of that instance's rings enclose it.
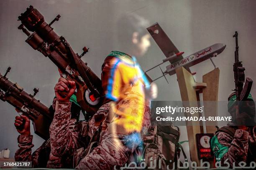
<instances>
[{"instance_id":1,"label":"masked fighter with green headband at right, beside the upright rifle","mask_svg":"<svg viewBox=\"0 0 256 170\"><path fill-rule=\"evenodd\" d=\"M211 139L212 151L222 166L226 166L224 161L227 159L230 168L233 168L233 163L238 166L241 161L250 165L251 161L256 161L255 102L250 94L240 103L237 113L236 94L232 93L228 100L228 112L233 122L217 130Z\"/></svg>"}]
</instances>

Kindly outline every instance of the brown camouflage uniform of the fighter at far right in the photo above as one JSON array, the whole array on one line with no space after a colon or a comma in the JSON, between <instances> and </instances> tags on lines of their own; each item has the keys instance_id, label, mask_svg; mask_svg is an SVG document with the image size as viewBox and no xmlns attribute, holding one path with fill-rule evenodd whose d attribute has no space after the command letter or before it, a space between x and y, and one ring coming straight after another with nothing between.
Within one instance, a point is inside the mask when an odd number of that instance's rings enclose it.
<instances>
[{"instance_id":1,"label":"brown camouflage uniform of the fighter at far right","mask_svg":"<svg viewBox=\"0 0 256 170\"><path fill-rule=\"evenodd\" d=\"M221 165L226 166L224 164L226 159L230 163L230 168L233 168L233 163L238 166L238 163L241 161L246 162L247 165L250 165L251 161L256 162L256 156L254 154L256 152L256 127L251 127L248 131L233 126L230 127L236 130L234 136L230 136L225 132L216 133L220 147L227 147L226 150L223 150ZM220 147L213 147L213 152L215 154L218 153Z\"/></svg>"}]
</instances>

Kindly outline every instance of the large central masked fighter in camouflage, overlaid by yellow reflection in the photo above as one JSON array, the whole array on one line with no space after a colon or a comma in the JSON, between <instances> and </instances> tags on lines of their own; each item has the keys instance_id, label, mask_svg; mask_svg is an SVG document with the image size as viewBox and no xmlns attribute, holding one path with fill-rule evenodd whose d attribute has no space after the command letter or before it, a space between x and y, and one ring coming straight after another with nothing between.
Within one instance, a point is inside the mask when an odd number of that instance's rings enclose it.
<instances>
[{"instance_id":1,"label":"large central masked fighter in camouflage, overlaid by yellow reflection","mask_svg":"<svg viewBox=\"0 0 256 170\"><path fill-rule=\"evenodd\" d=\"M132 40L137 47L147 42L144 34L139 35L138 32ZM138 49L140 47L137 52ZM81 127L69 118L68 97L76 88L74 82L60 78L55 86L58 100L50 127L51 148L58 157L74 154L74 165L79 169L122 166L141 142L141 133L146 133L150 126L150 109L148 102L145 102L145 92L151 93L151 88L135 57L123 52L111 52L102 65L101 78L107 100L83 130L77 130ZM61 92L64 90L68 95L63 98ZM81 148L79 131L87 132L90 139L87 147Z\"/></svg>"}]
</instances>

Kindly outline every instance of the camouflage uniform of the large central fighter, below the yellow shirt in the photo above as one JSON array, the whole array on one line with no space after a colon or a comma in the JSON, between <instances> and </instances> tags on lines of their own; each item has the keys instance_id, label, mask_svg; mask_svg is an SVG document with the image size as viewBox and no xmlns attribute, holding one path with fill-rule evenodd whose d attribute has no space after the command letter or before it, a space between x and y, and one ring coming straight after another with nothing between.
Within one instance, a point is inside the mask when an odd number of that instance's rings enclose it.
<instances>
[{"instance_id":1,"label":"camouflage uniform of the large central fighter, below the yellow shirt","mask_svg":"<svg viewBox=\"0 0 256 170\"><path fill-rule=\"evenodd\" d=\"M140 139L131 143L128 135L110 133L110 103L102 105L89 122L71 119L70 102L55 101L54 119L50 126L52 154L56 157L74 155L77 169L113 169L123 166L136 149ZM143 128L150 126L150 108L145 107ZM95 143L99 143L93 145Z\"/></svg>"}]
</instances>

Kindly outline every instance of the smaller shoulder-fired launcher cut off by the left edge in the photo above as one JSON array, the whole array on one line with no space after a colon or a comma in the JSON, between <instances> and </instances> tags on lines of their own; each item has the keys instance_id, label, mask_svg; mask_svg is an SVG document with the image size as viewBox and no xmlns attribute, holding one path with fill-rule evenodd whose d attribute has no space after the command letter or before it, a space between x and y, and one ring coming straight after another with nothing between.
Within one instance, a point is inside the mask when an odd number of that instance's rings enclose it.
<instances>
[{"instance_id":1,"label":"smaller shoulder-fired launcher cut off by the left edge","mask_svg":"<svg viewBox=\"0 0 256 170\"><path fill-rule=\"evenodd\" d=\"M13 105L17 112L22 112L33 121L34 132L47 140L49 138L49 127L54 114L49 108L34 97L38 89L34 88L34 94L28 94L17 83L10 82L6 77L11 67L8 67L5 75L0 74L0 99ZM4 93L5 92L5 93Z\"/></svg>"}]
</instances>

